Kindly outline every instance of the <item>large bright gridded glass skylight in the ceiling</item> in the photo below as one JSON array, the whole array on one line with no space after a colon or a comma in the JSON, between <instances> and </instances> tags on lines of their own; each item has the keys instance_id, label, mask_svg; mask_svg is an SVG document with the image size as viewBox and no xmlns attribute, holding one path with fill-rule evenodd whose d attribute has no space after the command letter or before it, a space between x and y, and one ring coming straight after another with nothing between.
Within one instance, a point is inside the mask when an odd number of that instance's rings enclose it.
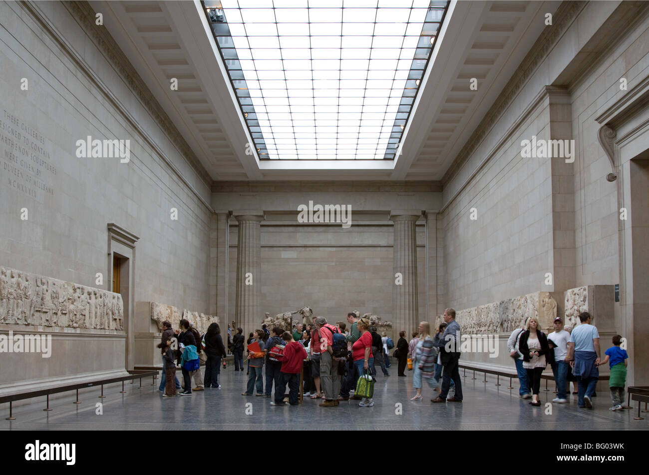
<instances>
[{"instance_id":1,"label":"large bright gridded glass skylight in the ceiling","mask_svg":"<svg viewBox=\"0 0 649 475\"><path fill-rule=\"evenodd\" d=\"M393 160L448 2L204 7L260 160Z\"/></svg>"}]
</instances>

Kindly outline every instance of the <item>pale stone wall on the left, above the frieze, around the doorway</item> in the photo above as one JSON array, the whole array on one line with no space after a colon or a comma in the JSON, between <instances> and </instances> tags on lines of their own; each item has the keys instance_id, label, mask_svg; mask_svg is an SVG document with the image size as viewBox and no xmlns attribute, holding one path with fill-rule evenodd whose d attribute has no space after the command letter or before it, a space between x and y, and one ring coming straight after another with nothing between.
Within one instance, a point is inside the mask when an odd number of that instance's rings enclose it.
<instances>
[{"instance_id":1,"label":"pale stone wall on the left, above the frieze, around the doorway","mask_svg":"<svg viewBox=\"0 0 649 475\"><path fill-rule=\"evenodd\" d=\"M129 83L82 32L62 3L38 4L45 21L67 42L123 104L136 125L108 100L83 67L77 66L19 3L1 3L0 120L16 121L30 144L49 156L37 164L0 143L0 261L25 271L95 287L95 274L108 281L107 223L140 240L136 244L135 300L162 301L208 309L209 187L169 140ZM121 72L121 71L120 71ZM29 89L21 91L21 78ZM24 125L23 125L24 124ZM138 130L138 127L140 130ZM14 126L16 128L16 126ZM165 164L140 131L151 137L177 168ZM130 140L127 164L118 158L77 158L75 142L86 136ZM8 130L0 136L12 138ZM14 137L15 139L15 137ZM43 158L45 152L34 151ZM18 160L18 163L15 162ZM12 168L16 169L12 174ZM5 168L6 167L6 168ZM31 167L31 168L30 168ZM55 169L55 173L53 173ZM51 189L34 186L34 179ZM14 181L15 180L15 181ZM31 181L30 181L31 180ZM192 191L189 187L193 188ZM200 197L200 198L199 198ZM20 219L27 208L29 219ZM170 219L177 208L178 220Z\"/></svg>"}]
</instances>

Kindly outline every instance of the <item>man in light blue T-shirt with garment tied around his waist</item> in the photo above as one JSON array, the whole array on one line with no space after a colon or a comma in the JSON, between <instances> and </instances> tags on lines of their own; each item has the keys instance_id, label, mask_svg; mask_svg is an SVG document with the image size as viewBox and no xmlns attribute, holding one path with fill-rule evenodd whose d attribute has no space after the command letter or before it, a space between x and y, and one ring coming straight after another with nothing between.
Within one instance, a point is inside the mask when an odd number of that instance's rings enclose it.
<instances>
[{"instance_id":1,"label":"man in light blue T-shirt with garment tied around his waist","mask_svg":"<svg viewBox=\"0 0 649 475\"><path fill-rule=\"evenodd\" d=\"M593 317L590 313L582 311L579 319L582 324L576 326L570 334L565 361L570 362L572 374L577 378L577 405L593 409L591 397L600 376L597 369L600 364L600 334L597 327L591 325Z\"/></svg>"}]
</instances>

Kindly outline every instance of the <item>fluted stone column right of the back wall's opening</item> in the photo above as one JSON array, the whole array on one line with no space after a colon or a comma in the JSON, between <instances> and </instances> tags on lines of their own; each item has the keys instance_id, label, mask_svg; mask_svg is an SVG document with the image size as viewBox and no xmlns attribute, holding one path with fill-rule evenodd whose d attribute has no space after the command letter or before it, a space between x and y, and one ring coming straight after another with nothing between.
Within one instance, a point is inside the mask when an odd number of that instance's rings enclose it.
<instances>
[{"instance_id":1,"label":"fluted stone column right of the back wall's opening","mask_svg":"<svg viewBox=\"0 0 649 475\"><path fill-rule=\"evenodd\" d=\"M390 219L394 223L392 318L395 324L395 333L405 330L406 335L415 331L419 324L417 238L415 235L415 223L419 217L421 217L421 212L416 211L393 211L390 213Z\"/></svg>"}]
</instances>

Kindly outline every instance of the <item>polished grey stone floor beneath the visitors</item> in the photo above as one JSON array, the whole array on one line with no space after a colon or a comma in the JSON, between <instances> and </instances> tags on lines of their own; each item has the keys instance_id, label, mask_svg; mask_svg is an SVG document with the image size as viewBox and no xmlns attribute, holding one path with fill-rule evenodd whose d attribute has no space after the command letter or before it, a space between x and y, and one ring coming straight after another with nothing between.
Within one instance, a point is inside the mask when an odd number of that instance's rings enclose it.
<instances>
[{"instance_id":1,"label":"polished grey stone floor beneath the visitors","mask_svg":"<svg viewBox=\"0 0 649 475\"><path fill-rule=\"evenodd\" d=\"M395 368L393 368L395 369ZM395 371L396 373L396 371ZM28 404L14 406L16 420L5 420L8 404L0 405L0 429L12 430L248 430L275 429L341 430L648 430L649 413L644 420L633 420L637 409L611 412L609 394L600 393L593 399L594 409L578 409L576 396L570 404L553 404L546 414L545 402L555 397L552 391L541 391L539 408L511 392L508 384L495 385L495 378L480 376L463 378L462 404L432 404L432 390L424 387L424 399L410 401L415 394L411 372L406 378L396 374L378 377L374 391L374 407L360 408L358 402L341 402L337 408L320 408L320 400L306 399L299 406L275 407L271 399L241 396L245 389L245 372L232 367L221 371L221 389L194 392L192 396L162 398L151 378L126 384L127 393L120 394L121 384L104 387L106 398L100 399L99 388L80 391L82 404L73 404L75 393L50 398L52 411L43 411L45 398L32 399ZM501 380L502 382L502 380ZM509 380L505 380L508 383ZM517 382L515 382L516 384ZM424 384L425 386L425 384ZM542 386L545 387L545 386ZM554 387L550 383L550 387ZM97 414L95 403L103 404L103 414ZM247 403L250 405L247 406ZM632 402L632 405L637 404ZM637 408L637 406L634 406ZM335 414L335 417L332 417Z\"/></svg>"}]
</instances>

